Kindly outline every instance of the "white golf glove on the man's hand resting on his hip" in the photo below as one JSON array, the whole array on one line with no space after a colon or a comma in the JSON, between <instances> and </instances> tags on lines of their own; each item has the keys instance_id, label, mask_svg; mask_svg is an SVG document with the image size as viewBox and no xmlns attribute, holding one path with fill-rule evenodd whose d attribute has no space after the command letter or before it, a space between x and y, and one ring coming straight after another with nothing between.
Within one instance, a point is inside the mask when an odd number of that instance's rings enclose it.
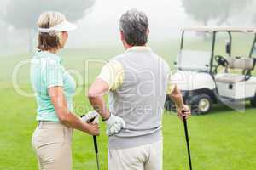
<instances>
[{"instance_id":1,"label":"white golf glove on the man's hand resting on his hip","mask_svg":"<svg viewBox=\"0 0 256 170\"><path fill-rule=\"evenodd\" d=\"M112 136L115 133L119 133L122 128L125 128L125 121L113 114L110 115L107 121L104 121L107 124L107 135Z\"/></svg>"}]
</instances>

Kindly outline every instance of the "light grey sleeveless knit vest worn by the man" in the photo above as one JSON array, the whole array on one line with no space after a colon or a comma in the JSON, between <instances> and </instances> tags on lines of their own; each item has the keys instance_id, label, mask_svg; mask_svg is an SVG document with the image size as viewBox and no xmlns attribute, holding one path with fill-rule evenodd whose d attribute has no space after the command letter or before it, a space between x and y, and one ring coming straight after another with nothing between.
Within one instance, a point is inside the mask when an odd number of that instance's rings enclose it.
<instances>
[{"instance_id":1,"label":"light grey sleeveless knit vest worn by the man","mask_svg":"<svg viewBox=\"0 0 256 170\"><path fill-rule=\"evenodd\" d=\"M109 111L120 116L125 129L109 138L110 149L152 144L161 139L166 100L166 62L151 50L130 50L112 60L124 67L124 82L109 94Z\"/></svg>"}]
</instances>

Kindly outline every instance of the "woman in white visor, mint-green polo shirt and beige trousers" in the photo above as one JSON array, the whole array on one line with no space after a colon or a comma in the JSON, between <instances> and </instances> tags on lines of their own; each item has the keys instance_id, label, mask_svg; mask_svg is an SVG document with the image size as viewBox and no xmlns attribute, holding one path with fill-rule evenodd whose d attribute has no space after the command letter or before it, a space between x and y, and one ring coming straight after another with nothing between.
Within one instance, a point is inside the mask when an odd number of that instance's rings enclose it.
<instances>
[{"instance_id":1,"label":"woman in white visor, mint-green polo shirt and beige trousers","mask_svg":"<svg viewBox=\"0 0 256 170\"><path fill-rule=\"evenodd\" d=\"M99 133L97 125L85 123L72 113L76 84L58 55L67 42L67 31L75 28L58 12L46 12L38 19L38 51L32 59L31 82L38 103L32 146L40 170L72 169L73 128L91 135Z\"/></svg>"}]
</instances>

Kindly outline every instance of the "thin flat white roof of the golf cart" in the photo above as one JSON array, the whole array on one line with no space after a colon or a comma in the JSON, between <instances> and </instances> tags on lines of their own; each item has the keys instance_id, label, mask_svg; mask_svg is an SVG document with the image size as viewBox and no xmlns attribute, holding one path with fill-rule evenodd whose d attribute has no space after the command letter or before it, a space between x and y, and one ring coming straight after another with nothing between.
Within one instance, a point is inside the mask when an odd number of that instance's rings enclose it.
<instances>
[{"instance_id":1,"label":"thin flat white roof of the golf cart","mask_svg":"<svg viewBox=\"0 0 256 170\"><path fill-rule=\"evenodd\" d=\"M234 32L256 32L256 28L253 27L224 27L224 26L195 26L185 27L182 31L234 31Z\"/></svg>"}]
</instances>

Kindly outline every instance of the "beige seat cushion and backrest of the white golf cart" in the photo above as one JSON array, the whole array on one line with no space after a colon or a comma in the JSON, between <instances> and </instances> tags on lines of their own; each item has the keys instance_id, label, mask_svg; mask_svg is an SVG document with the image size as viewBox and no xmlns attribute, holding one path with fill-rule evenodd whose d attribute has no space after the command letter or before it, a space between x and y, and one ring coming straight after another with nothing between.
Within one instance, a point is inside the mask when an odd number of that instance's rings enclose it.
<instances>
[{"instance_id":1,"label":"beige seat cushion and backrest of the white golf cart","mask_svg":"<svg viewBox=\"0 0 256 170\"><path fill-rule=\"evenodd\" d=\"M245 58L245 57L229 57L226 59L228 61L227 68L229 69L240 69L242 71L250 72L254 69L255 59ZM243 82L250 77L250 74L233 74L224 73L219 77L216 77L216 82Z\"/></svg>"}]
</instances>

